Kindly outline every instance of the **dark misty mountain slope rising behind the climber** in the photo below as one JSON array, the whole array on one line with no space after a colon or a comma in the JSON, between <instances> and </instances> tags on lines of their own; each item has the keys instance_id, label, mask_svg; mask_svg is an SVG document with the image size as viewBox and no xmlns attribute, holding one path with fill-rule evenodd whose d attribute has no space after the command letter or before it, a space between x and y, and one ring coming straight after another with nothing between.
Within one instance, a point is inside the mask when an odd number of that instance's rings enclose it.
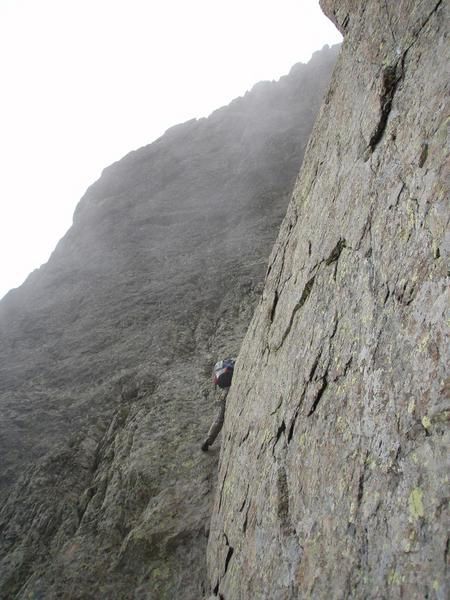
<instances>
[{"instance_id":1,"label":"dark misty mountain slope rising behind the climber","mask_svg":"<svg viewBox=\"0 0 450 600\"><path fill-rule=\"evenodd\" d=\"M198 600L210 373L261 292L337 48L106 169L0 304L0 597Z\"/></svg>"}]
</instances>

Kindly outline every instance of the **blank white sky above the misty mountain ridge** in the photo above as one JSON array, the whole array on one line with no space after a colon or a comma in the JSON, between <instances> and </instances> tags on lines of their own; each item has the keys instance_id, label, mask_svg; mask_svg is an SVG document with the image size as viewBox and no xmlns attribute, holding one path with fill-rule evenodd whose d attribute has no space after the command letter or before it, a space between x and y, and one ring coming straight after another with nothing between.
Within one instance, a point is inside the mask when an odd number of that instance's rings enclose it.
<instances>
[{"instance_id":1,"label":"blank white sky above the misty mountain ridge","mask_svg":"<svg viewBox=\"0 0 450 600\"><path fill-rule=\"evenodd\" d=\"M340 40L318 0L0 0L0 298L104 167Z\"/></svg>"}]
</instances>

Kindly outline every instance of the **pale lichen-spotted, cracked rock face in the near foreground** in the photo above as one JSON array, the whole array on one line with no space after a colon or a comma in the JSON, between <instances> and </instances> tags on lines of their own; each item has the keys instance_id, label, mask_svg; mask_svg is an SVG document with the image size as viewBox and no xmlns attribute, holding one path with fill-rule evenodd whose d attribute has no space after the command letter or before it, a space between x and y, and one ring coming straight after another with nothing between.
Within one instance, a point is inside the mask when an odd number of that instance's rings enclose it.
<instances>
[{"instance_id":1,"label":"pale lichen-spotted, cracked rock face in the near foreground","mask_svg":"<svg viewBox=\"0 0 450 600\"><path fill-rule=\"evenodd\" d=\"M228 397L211 593L443 600L449 3L322 5L344 44Z\"/></svg>"}]
</instances>

